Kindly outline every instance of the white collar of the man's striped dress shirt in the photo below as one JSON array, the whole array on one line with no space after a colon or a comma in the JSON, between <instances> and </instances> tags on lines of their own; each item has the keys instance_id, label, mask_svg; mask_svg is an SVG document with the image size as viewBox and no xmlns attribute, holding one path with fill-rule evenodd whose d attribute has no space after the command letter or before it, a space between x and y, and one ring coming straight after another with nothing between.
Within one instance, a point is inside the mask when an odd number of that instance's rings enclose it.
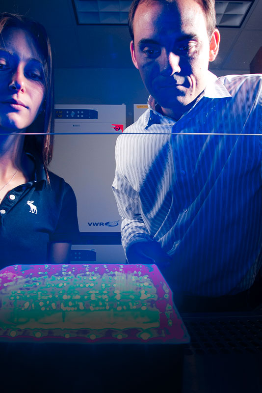
<instances>
[{"instance_id":1,"label":"white collar of the man's striped dress shirt","mask_svg":"<svg viewBox=\"0 0 262 393\"><path fill-rule=\"evenodd\" d=\"M216 75L214 75L210 71L208 71L207 85L205 87L203 94L200 96L200 99L203 97L207 97L207 98L211 98L211 99L232 97L231 94L229 93L229 91L227 90L227 88L224 86L223 81L224 81L223 77L218 79ZM160 124L160 117L159 116L161 116L161 114L159 114L156 109L157 102L156 102L155 98L153 98L151 95L148 98L147 105L148 105L148 108L150 109L150 116L149 116L149 120L148 120L146 129L151 124L153 124L153 121L156 119L156 117L153 117L152 113L155 113L155 115L158 116L158 120L155 121L155 124Z\"/></svg>"}]
</instances>

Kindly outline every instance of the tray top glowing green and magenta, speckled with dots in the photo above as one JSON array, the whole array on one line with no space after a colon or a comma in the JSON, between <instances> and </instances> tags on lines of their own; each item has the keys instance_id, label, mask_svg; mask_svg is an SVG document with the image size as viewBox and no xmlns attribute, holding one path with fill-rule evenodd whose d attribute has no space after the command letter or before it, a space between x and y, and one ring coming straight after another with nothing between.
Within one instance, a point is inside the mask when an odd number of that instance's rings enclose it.
<instances>
[{"instance_id":1,"label":"tray top glowing green and magenta, speckled with dots","mask_svg":"<svg viewBox=\"0 0 262 393\"><path fill-rule=\"evenodd\" d=\"M0 270L0 341L184 344L156 265L14 265Z\"/></svg>"}]
</instances>

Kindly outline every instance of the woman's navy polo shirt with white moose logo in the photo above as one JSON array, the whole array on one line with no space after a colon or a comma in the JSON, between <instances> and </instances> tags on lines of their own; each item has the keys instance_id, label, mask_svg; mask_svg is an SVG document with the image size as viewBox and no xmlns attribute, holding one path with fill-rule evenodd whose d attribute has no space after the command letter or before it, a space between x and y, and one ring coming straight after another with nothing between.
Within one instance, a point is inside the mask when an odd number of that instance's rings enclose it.
<instances>
[{"instance_id":1,"label":"woman's navy polo shirt with white moose logo","mask_svg":"<svg viewBox=\"0 0 262 393\"><path fill-rule=\"evenodd\" d=\"M78 235L72 188L52 172L49 185L43 165L35 165L35 180L11 190L0 204L0 269L47 263L49 242L71 243Z\"/></svg>"}]
</instances>

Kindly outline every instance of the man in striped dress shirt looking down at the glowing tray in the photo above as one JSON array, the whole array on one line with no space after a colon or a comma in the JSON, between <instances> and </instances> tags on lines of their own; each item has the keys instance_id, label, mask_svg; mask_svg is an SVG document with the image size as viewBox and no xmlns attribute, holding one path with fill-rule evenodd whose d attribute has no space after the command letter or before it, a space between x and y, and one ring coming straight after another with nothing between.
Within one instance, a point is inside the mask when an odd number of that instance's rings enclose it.
<instances>
[{"instance_id":1,"label":"man in striped dress shirt looking down at the glowing tray","mask_svg":"<svg viewBox=\"0 0 262 393\"><path fill-rule=\"evenodd\" d=\"M248 135L262 131L262 78L208 71L220 35L202 1L131 4L149 110L117 140L113 191L129 263L157 263L175 297L235 306L262 263L262 142Z\"/></svg>"}]
</instances>

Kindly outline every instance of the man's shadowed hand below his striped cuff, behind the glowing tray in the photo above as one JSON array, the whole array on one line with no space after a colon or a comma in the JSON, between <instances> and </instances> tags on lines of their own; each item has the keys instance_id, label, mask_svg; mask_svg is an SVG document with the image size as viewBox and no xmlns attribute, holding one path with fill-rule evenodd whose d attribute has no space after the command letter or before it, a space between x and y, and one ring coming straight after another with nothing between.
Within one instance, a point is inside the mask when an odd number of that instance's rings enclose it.
<instances>
[{"instance_id":1,"label":"man's shadowed hand below his striped cuff, behind the glowing tray","mask_svg":"<svg viewBox=\"0 0 262 393\"><path fill-rule=\"evenodd\" d=\"M159 267L168 267L171 258L161 248L158 242L136 242L127 248L129 263L156 264Z\"/></svg>"}]
</instances>

